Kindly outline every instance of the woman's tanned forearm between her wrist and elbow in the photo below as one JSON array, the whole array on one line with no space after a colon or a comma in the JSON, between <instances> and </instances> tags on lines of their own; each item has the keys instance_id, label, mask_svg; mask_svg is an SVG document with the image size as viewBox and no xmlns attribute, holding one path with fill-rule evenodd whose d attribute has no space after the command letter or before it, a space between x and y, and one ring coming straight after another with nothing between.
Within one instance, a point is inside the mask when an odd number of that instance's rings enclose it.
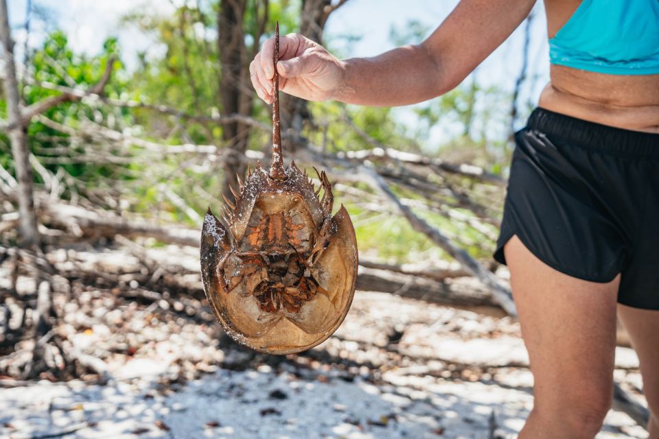
<instances>
[{"instance_id":1,"label":"woman's tanned forearm between her wrist and elbow","mask_svg":"<svg viewBox=\"0 0 659 439\"><path fill-rule=\"evenodd\" d=\"M351 58L342 64L343 86L334 99L347 104L416 104L456 85L442 74L441 62L423 44L397 47L373 58Z\"/></svg>"}]
</instances>

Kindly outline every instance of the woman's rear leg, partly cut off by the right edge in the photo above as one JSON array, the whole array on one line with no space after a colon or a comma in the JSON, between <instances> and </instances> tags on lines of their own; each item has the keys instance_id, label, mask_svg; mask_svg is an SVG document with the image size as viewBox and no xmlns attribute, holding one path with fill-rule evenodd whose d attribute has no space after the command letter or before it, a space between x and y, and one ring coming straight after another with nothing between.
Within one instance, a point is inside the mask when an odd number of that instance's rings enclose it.
<instances>
[{"instance_id":1,"label":"woman's rear leg, partly cut off by the right edge","mask_svg":"<svg viewBox=\"0 0 659 439\"><path fill-rule=\"evenodd\" d=\"M640 360L643 375L643 394L650 409L649 437L659 438L659 311L618 305L618 316L623 322L632 346Z\"/></svg>"}]
</instances>

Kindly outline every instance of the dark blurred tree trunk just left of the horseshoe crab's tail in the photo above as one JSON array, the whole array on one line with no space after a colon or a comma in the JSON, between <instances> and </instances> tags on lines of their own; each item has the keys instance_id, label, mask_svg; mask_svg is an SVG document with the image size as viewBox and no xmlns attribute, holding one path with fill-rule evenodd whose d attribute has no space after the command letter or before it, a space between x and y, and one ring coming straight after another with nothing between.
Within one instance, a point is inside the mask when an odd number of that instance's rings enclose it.
<instances>
[{"instance_id":1,"label":"dark blurred tree trunk just left of the horseshoe crab's tail","mask_svg":"<svg viewBox=\"0 0 659 439\"><path fill-rule=\"evenodd\" d=\"M245 46L245 31L243 20L247 0L222 0L218 12L218 52L222 69L220 80L220 100L223 116L250 115L251 85L247 83L248 62ZM258 43L255 43L258 44ZM229 186L236 187L240 176L245 173L245 165L241 160L248 141L248 126L239 121L227 123L222 131L222 138L227 141L231 154L224 163L224 185L222 193L231 197Z\"/></svg>"}]
</instances>

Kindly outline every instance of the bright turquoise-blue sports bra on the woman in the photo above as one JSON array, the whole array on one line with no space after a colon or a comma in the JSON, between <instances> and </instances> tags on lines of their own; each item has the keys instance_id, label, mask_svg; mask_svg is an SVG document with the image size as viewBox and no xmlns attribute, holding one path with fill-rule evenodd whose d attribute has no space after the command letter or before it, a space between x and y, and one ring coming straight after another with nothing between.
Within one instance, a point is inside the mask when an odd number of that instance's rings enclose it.
<instances>
[{"instance_id":1,"label":"bright turquoise-blue sports bra on the woman","mask_svg":"<svg viewBox=\"0 0 659 439\"><path fill-rule=\"evenodd\" d=\"M659 73L659 0L583 0L549 39L549 60L613 75Z\"/></svg>"}]
</instances>

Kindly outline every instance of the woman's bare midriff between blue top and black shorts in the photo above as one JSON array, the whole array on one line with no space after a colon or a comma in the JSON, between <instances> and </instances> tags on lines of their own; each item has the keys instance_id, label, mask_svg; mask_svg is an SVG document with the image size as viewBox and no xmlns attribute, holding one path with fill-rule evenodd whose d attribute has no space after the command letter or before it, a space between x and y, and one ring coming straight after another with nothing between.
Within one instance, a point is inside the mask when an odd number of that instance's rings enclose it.
<instances>
[{"instance_id":1,"label":"woman's bare midriff between blue top and black shorts","mask_svg":"<svg viewBox=\"0 0 659 439\"><path fill-rule=\"evenodd\" d=\"M550 73L538 106L603 125L659 133L659 75L608 75L555 64Z\"/></svg>"}]
</instances>

